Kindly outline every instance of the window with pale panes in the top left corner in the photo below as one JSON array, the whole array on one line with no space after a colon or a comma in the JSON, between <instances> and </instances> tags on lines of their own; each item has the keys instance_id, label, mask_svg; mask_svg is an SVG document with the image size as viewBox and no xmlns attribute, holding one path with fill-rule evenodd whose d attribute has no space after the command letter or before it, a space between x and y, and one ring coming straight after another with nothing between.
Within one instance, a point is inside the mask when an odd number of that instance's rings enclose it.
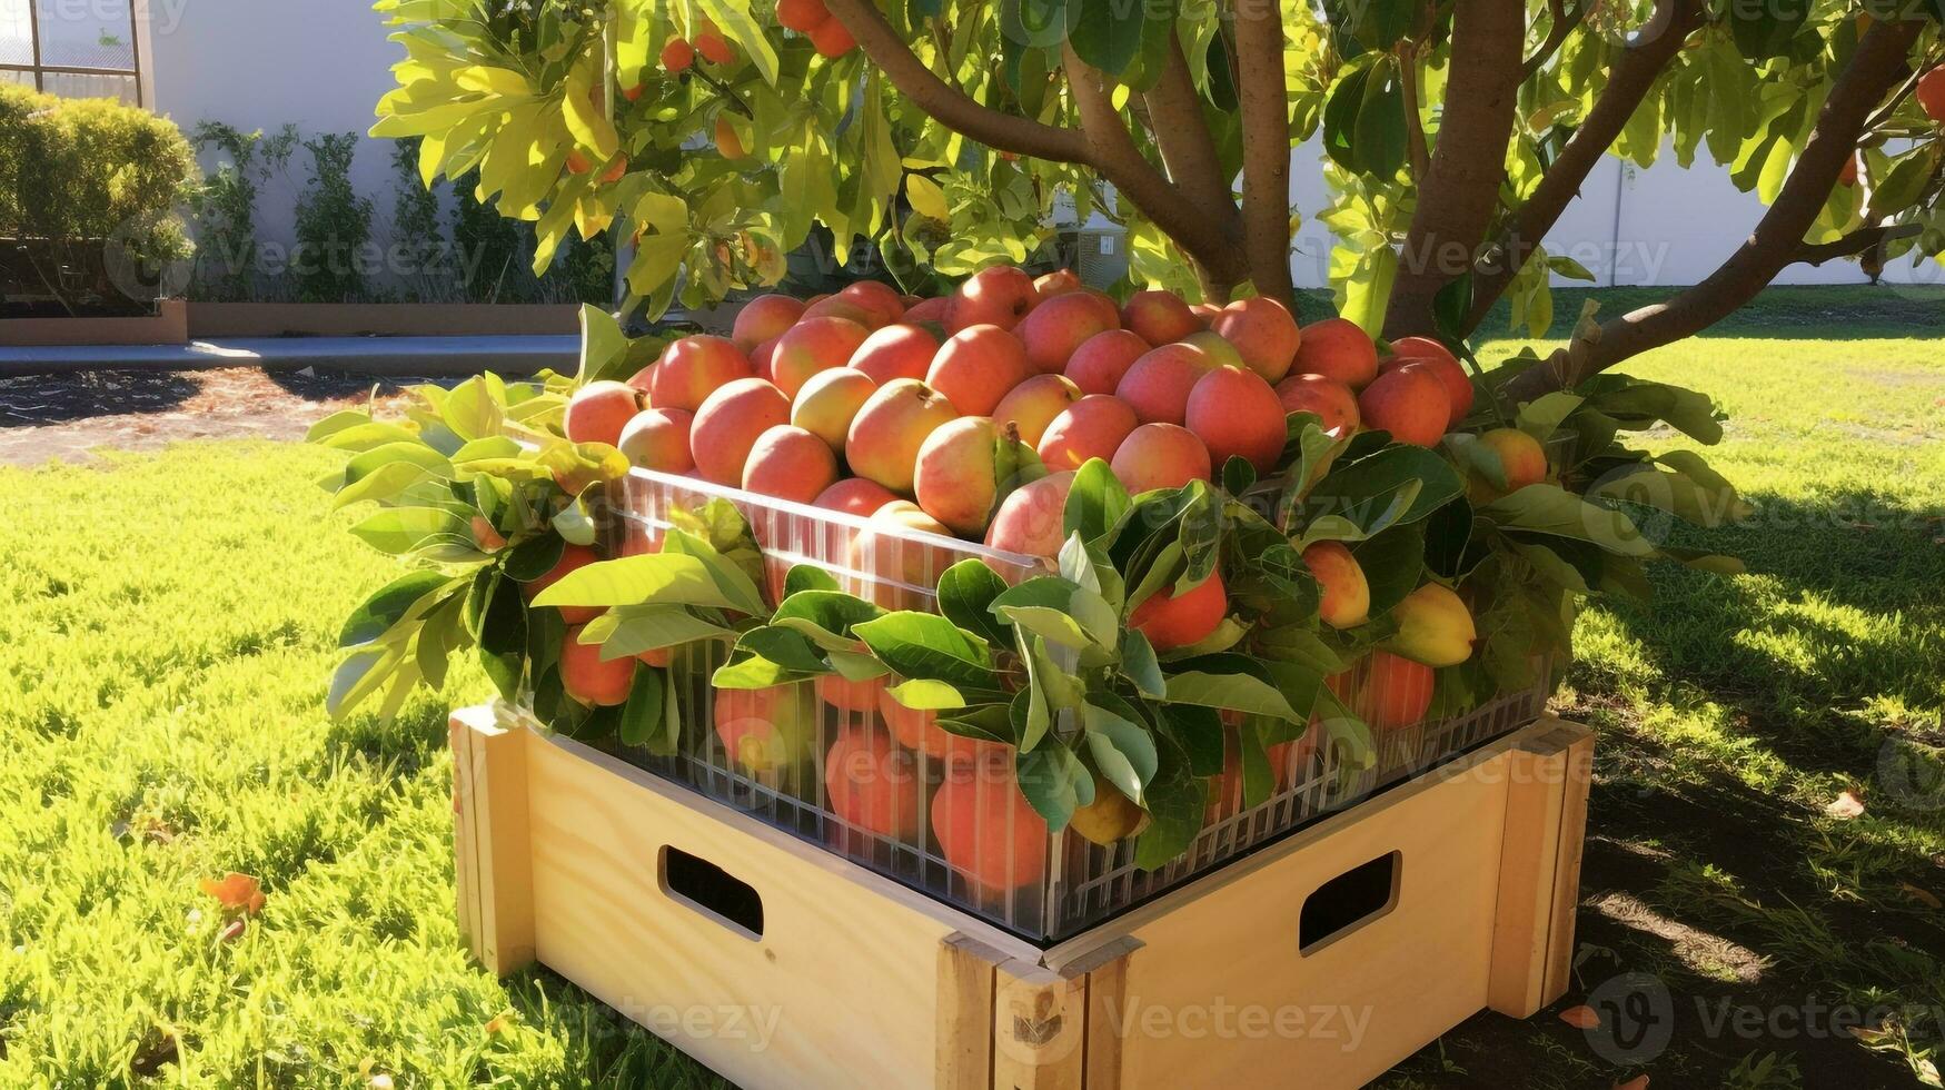
<instances>
[{"instance_id":1,"label":"window with pale panes in the top left corner","mask_svg":"<svg viewBox=\"0 0 1945 1090\"><path fill-rule=\"evenodd\" d=\"M134 0L0 0L0 80L142 105Z\"/></svg>"}]
</instances>

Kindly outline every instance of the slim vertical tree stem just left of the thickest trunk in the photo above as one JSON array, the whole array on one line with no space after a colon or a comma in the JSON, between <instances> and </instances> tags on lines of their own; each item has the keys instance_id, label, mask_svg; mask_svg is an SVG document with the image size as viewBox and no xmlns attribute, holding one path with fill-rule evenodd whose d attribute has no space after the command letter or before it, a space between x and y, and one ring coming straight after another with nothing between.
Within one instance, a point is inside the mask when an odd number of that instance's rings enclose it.
<instances>
[{"instance_id":1,"label":"slim vertical tree stem just left of the thickest trunk","mask_svg":"<svg viewBox=\"0 0 1945 1090\"><path fill-rule=\"evenodd\" d=\"M1480 0L1470 0L1480 2ZM1500 2L1500 0L1496 0ZM1509 0L1515 6L1519 0ZM1231 0L1237 91L1243 113L1243 253L1258 296L1295 309L1290 280L1290 90L1284 10Z\"/></svg>"}]
</instances>

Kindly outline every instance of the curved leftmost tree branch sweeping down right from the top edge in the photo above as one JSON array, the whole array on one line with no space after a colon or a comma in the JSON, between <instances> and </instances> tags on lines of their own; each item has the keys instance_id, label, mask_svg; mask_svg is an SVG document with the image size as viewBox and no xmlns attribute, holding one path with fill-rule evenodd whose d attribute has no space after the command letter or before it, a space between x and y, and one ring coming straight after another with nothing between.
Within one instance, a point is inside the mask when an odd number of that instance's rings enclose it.
<instances>
[{"instance_id":1,"label":"curved leftmost tree branch sweeping down right from the top edge","mask_svg":"<svg viewBox=\"0 0 1945 1090\"><path fill-rule=\"evenodd\" d=\"M885 72L891 86L939 125L1002 152L1062 164L1087 162L1087 144L1074 128L980 105L972 95L941 80L926 68L871 0L827 0L825 6L858 39L858 47Z\"/></svg>"}]
</instances>

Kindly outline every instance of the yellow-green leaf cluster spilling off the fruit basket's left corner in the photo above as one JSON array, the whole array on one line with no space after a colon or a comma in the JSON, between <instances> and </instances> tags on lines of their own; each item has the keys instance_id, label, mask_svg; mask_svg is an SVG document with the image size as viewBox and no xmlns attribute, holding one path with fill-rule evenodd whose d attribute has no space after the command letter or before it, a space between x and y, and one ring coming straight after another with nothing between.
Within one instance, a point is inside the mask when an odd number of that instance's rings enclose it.
<instances>
[{"instance_id":1,"label":"yellow-green leaf cluster spilling off the fruit basket's left corner","mask_svg":"<svg viewBox=\"0 0 1945 1090\"><path fill-rule=\"evenodd\" d=\"M595 545L605 489L628 471L611 446L568 442L562 413L576 387L632 374L657 346L585 308L576 376L416 385L403 418L348 409L311 426L309 442L350 455L342 473L319 481L333 506L375 506L352 533L412 566L346 619L338 644L350 654L331 683L333 716L371 697L393 714L412 687L438 689L463 650L502 699L552 691L548 679L558 689L560 611L529 609L521 588L570 543ZM572 708L550 710L574 718Z\"/></svg>"}]
</instances>

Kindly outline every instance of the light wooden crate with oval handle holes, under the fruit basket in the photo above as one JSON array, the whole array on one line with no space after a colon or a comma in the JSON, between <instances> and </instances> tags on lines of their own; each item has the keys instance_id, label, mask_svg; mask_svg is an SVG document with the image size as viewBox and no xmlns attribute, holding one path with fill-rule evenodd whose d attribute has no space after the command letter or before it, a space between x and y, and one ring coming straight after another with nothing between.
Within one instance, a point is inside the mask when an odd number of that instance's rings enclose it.
<instances>
[{"instance_id":1,"label":"light wooden crate with oval handle holes, under the fruit basket","mask_svg":"<svg viewBox=\"0 0 1945 1090\"><path fill-rule=\"evenodd\" d=\"M451 742L473 954L743 1086L1358 1086L1568 985L1593 736L1556 718L1048 950L484 708Z\"/></svg>"}]
</instances>

